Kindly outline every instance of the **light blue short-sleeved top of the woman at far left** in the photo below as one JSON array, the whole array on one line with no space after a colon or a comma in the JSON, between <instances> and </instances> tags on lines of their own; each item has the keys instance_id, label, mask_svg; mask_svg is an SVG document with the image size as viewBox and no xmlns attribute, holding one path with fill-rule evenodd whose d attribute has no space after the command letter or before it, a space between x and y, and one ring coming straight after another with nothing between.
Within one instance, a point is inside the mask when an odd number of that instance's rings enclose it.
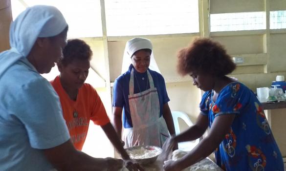
<instances>
[{"instance_id":1,"label":"light blue short-sleeved top of the woman at far left","mask_svg":"<svg viewBox=\"0 0 286 171\"><path fill-rule=\"evenodd\" d=\"M70 137L59 97L27 59L0 78L0 171L49 171L42 149Z\"/></svg>"}]
</instances>

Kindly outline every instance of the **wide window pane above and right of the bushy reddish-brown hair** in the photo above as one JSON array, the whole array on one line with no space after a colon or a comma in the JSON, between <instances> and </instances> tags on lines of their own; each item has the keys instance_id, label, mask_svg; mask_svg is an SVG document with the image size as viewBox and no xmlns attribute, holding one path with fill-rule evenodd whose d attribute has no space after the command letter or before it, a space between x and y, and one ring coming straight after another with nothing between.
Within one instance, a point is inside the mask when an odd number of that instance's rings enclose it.
<instances>
[{"instance_id":1,"label":"wide window pane above and right of the bushy reddish-brown hair","mask_svg":"<svg viewBox=\"0 0 286 171\"><path fill-rule=\"evenodd\" d=\"M211 32L266 29L265 12L211 14Z\"/></svg>"}]
</instances>

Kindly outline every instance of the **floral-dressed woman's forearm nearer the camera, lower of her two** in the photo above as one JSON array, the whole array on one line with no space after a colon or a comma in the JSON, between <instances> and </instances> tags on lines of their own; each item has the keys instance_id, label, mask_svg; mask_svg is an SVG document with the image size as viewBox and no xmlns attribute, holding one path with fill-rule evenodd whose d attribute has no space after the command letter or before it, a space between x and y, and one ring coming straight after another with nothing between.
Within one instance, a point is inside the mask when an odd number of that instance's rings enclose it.
<instances>
[{"instance_id":1,"label":"floral-dressed woman's forearm nearer the camera, lower of her two","mask_svg":"<svg viewBox=\"0 0 286 171\"><path fill-rule=\"evenodd\" d=\"M177 160L176 166L183 170L209 156L219 145L220 142L206 137L188 154Z\"/></svg>"}]
</instances>

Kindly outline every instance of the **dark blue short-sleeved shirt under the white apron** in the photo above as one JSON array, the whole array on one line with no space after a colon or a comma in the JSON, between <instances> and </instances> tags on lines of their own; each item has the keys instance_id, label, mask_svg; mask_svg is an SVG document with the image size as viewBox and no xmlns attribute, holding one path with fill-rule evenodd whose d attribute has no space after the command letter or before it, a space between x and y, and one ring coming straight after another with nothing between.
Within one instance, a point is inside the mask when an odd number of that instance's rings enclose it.
<instances>
[{"instance_id":1,"label":"dark blue short-sleeved shirt under the white apron","mask_svg":"<svg viewBox=\"0 0 286 171\"><path fill-rule=\"evenodd\" d=\"M128 101L129 95L129 81L131 76L131 70L133 65L129 66L129 69L124 74L120 75L114 82L113 86L113 107L123 107L123 126L124 128L132 128L132 119L130 115L130 107ZM154 86L158 91L158 98L160 104L160 116L163 113L163 105L170 101L164 78L156 71L148 69L153 81ZM144 79L142 79L144 78ZM139 93L150 88L149 82L147 83L147 71L145 73L136 72L134 68L134 93Z\"/></svg>"}]
</instances>

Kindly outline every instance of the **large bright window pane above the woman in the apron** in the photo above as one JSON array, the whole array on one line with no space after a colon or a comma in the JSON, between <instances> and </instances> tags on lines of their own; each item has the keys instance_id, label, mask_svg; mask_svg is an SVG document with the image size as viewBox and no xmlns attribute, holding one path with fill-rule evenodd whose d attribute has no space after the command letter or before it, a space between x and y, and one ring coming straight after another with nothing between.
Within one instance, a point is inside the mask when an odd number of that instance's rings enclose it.
<instances>
[{"instance_id":1,"label":"large bright window pane above the woman in the apron","mask_svg":"<svg viewBox=\"0 0 286 171\"><path fill-rule=\"evenodd\" d=\"M195 33L198 0L105 0L108 36Z\"/></svg>"}]
</instances>

